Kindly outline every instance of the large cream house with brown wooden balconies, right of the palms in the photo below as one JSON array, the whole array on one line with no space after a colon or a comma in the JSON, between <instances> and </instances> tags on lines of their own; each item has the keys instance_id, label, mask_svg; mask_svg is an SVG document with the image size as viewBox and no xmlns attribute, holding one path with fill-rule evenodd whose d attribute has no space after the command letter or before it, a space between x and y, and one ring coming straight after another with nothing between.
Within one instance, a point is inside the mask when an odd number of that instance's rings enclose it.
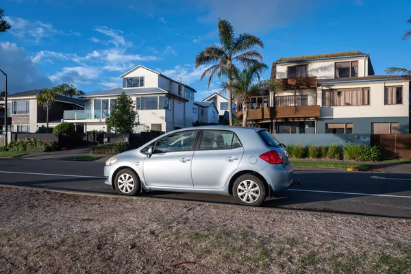
<instances>
[{"instance_id":1,"label":"large cream house with brown wooden balconies, right of the palms","mask_svg":"<svg viewBox=\"0 0 411 274\"><path fill-rule=\"evenodd\" d=\"M280 58L282 92L253 97L249 119L278 134L410 132L410 77L375 75L360 51Z\"/></svg>"}]
</instances>

